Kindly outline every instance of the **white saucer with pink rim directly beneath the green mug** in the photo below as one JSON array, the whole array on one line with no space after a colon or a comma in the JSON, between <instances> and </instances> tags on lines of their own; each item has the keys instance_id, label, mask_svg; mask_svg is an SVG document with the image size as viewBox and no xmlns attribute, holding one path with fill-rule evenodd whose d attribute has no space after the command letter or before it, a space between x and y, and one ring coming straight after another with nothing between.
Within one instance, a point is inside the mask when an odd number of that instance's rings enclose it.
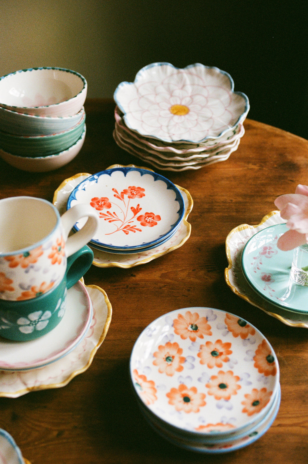
<instances>
[{"instance_id":1,"label":"white saucer with pink rim directly beneath the green mug","mask_svg":"<svg viewBox=\"0 0 308 464\"><path fill-rule=\"evenodd\" d=\"M84 339L92 317L90 296L79 281L68 290L65 314L52 332L27 343L0 340L0 370L26 371L58 361Z\"/></svg>"}]
</instances>

